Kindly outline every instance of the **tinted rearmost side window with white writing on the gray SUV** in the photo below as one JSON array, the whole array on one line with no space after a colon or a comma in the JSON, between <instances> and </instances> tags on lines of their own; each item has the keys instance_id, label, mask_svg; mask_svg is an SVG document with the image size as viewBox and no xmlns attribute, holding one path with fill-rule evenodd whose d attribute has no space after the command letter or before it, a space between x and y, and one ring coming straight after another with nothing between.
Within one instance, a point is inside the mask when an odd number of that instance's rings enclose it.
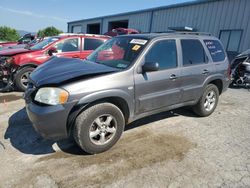
<instances>
[{"instance_id":1,"label":"tinted rearmost side window with white writing on the gray SUV","mask_svg":"<svg viewBox=\"0 0 250 188\"><path fill-rule=\"evenodd\" d=\"M223 61L225 52L217 40L204 40L214 62Z\"/></svg>"}]
</instances>

